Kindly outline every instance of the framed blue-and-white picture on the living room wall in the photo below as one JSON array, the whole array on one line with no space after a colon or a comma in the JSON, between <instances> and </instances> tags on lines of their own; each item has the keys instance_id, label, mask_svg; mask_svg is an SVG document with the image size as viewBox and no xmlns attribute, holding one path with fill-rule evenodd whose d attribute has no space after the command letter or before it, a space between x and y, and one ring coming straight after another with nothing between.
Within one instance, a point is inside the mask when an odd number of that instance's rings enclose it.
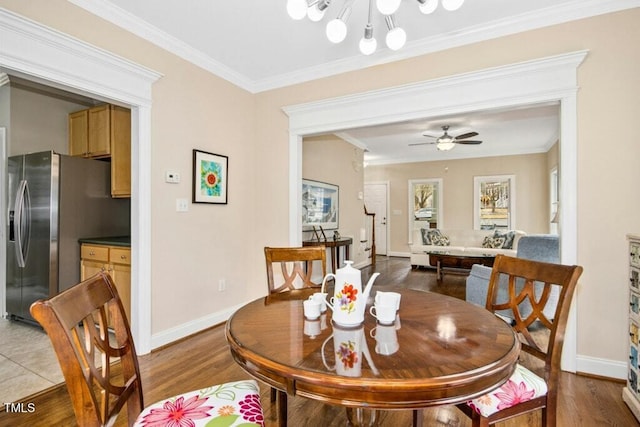
<instances>
[{"instance_id":1,"label":"framed blue-and-white picture on the living room wall","mask_svg":"<svg viewBox=\"0 0 640 427\"><path fill-rule=\"evenodd\" d=\"M338 228L340 189L326 182L302 180L302 230Z\"/></svg>"}]
</instances>

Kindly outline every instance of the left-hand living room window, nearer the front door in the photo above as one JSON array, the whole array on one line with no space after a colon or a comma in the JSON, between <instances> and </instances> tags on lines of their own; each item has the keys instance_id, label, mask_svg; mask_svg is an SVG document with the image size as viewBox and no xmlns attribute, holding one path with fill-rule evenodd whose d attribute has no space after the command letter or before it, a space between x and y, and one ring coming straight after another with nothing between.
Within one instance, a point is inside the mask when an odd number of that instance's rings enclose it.
<instances>
[{"instance_id":1,"label":"left-hand living room window, nearer the front door","mask_svg":"<svg viewBox=\"0 0 640 427\"><path fill-rule=\"evenodd\" d=\"M440 178L409 180L409 239L420 228L442 228Z\"/></svg>"}]
</instances>

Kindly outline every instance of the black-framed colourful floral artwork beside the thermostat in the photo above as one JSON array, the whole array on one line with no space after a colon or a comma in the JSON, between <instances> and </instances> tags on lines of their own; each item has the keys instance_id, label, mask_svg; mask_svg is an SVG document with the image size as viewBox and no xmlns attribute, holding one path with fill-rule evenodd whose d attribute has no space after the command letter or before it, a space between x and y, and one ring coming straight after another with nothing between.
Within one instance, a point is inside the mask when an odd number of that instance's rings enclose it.
<instances>
[{"instance_id":1,"label":"black-framed colourful floral artwork beside the thermostat","mask_svg":"<svg viewBox=\"0 0 640 427\"><path fill-rule=\"evenodd\" d=\"M229 158L193 150L193 203L227 204Z\"/></svg>"}]
</instances>

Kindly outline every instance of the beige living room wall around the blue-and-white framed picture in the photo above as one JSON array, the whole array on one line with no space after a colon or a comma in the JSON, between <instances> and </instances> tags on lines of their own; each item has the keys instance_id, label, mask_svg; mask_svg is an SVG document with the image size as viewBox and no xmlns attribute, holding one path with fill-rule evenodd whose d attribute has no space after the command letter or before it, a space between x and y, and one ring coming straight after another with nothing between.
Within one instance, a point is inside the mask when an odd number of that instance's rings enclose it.
<instances>
[{"instance_id":1,"label":"beige living room wall around the blue-and-white framed picture","mask_svg":"<svg viewBox=\"0 0 640 427\"><path fill-rule=\"evenodd\" d=\"M354 265L370 263L358 242L360 228L365 226L364 200L358 199L358 193L364 191L363 154L362 149L334 135L305 138L302 145L302 177L339 187L338 228L340 235L353 238L349 255ZM353 162L360 168L354 168ZM325 234L330 238L333 231ZM311 233L304 233L303 239L309 238Z\"/></svg>"}]
</instances>

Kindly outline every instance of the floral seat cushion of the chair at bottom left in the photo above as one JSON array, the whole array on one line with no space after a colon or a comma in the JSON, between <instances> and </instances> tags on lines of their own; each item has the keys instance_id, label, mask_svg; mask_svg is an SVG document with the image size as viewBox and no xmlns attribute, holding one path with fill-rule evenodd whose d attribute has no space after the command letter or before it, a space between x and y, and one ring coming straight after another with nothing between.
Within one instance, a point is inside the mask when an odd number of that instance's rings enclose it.
<instances>
[{"instance_id":1,"label":"floral seat cushion of the chair at bottom left","mask_svg":"<svg viewBox=\"0 0 640 427\"><path fill-rule=\"evenodd\" d=\"M134 425L264 427L260 389L247 380L181 394L145 408Z\"/></svg>"}]
</instances>

